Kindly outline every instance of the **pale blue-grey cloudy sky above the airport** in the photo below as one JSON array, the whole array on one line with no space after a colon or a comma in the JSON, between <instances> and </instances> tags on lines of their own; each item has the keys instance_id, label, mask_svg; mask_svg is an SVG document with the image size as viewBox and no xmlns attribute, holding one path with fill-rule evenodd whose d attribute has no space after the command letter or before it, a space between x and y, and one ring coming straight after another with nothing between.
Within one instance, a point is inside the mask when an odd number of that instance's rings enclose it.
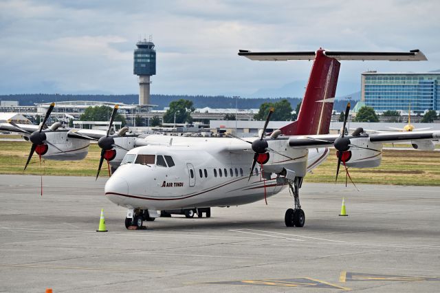
<instances>
[{"instance_id":1,"label":"pale blue-grey cloudy sky above the airport","mask_svg":"<svg viewBox=\"0 0 440 293\"><path fill-rule=\"evenodd\" d=\"M438 0L0 0L0 94L137 94L133 50L150 34L152 94L246 96L308 78L308 61L250 61L239 49L420 49L428 57L342 61L340 83L355 91L368 69L440 69L439 11Z\"/></svg>"}]
</instances>

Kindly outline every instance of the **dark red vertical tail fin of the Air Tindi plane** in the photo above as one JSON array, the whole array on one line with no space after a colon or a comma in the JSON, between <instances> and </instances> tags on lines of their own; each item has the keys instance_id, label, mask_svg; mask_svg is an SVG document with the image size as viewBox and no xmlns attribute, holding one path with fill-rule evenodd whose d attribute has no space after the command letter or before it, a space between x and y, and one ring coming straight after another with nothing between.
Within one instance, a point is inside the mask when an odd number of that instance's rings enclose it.
<instances>
[{"instance_id":1,"label":"dark red vertical tail fin of the Air Tindi plane","mask_svg":"<svg viewBox=\"0 0 440 293\"><path fill-rule=\"evenodd\" d=\"M284 135L329 133L340 63L325 56L324 51L316 52L298 120L281 127Z\"/></svg>"}]
</instances>

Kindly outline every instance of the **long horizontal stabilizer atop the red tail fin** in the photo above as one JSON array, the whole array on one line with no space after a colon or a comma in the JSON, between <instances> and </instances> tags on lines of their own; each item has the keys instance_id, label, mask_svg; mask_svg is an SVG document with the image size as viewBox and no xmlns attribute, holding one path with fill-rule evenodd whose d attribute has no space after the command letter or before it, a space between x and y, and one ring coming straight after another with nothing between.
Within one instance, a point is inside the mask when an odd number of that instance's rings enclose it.
<instances>
[{"instance_id":1,"label":"long horizontal stabilizer atop the red tail fin","mask_svg":"<svg viewBox=\"0 0 440 293\"><path fill-rule=\"evenodd\" d=\"M426 56L420 50L410 52L333 52L324 51L325 56L336 60L358 61L426 61ZM288 61L313 60L315 52L250 52L240 50L239 56L245 56L254 61Z\"/></svg>"}]
</instances>

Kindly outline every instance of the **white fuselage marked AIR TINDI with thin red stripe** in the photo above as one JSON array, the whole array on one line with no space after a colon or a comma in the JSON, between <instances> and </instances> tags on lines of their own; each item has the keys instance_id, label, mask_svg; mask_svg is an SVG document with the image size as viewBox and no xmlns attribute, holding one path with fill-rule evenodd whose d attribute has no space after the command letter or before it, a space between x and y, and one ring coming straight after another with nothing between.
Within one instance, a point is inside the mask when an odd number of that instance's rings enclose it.
<instances>
[{"instance_id":1,"label":"white fuselage marked AIR TINDI with thin red stripe","mask_svg":"<svg viewBox=\"0 0 440 293\"><path fill-rule=\"evenodd\" d=\"M261 166L257 164L248 182L254 152L246 142L234 138L173 137L170 145L170 137L151 135L147 139L156 145L129 151L126 158L133 162L123 162L107 181L105 194L111 202L151 210L248 204L286 187L284 178L278 176L277 180L273 172L287 166L303 177L329 154L327 148L292 149L283 146L287 140L274 140L270 148L289 158L270 153L270 160L263 164L263 170L272 173L270 179L262 177ZM154 163L135 163L140 155L155 156ZM160 166L159 156L172 158L174 166L169 166L168 161Z\"/></svg>"}]
</instances>

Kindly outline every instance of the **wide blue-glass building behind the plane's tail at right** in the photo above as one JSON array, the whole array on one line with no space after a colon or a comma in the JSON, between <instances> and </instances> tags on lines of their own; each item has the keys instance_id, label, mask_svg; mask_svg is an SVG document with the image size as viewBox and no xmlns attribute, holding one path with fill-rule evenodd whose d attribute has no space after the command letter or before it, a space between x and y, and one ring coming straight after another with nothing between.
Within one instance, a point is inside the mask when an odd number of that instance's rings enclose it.
<instances>
[{"instance_id":1,"label":"wide blue-glass building behind the plane's tail at right","mask_svg":"<svg viewBox=\"0 0 440 293\"><path fill-rule=\"evenodd\" d=\"M364 72L361 100L377 112L440 110L440 72Z\"/></svg>"}]
</instances>

